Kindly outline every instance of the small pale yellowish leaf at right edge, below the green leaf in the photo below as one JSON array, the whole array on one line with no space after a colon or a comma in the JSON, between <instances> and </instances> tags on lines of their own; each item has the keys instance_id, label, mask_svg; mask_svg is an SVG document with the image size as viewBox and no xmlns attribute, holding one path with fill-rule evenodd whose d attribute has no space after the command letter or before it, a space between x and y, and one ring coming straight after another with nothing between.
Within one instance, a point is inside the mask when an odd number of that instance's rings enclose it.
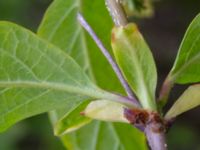
<instances>
[{"instance_id":1,"label":"small pale yellowish leaf at right edge, below the green leaf","mask_svg":"<svg viewBox=\"0 0 200 150\"><path fill-rule=\"evenodd\" d=\"M171 119L200 105L200 84L190 86L173 104L165 118Z\"/></svg>"}]
</instances>

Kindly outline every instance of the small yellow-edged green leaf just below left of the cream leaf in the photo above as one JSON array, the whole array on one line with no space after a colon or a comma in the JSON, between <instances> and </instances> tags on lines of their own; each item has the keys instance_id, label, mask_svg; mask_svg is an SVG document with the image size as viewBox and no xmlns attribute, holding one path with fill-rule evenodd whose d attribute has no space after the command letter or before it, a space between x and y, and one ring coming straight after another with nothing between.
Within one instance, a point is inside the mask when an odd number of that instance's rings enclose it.
<instances>
[{"instance_id":1,"label":"small yellow-edged green leaf just below left of the cream leaf","mask_svg":"<svg viewBox=\"0 0 200 150\"><path fill-rule=\"evenodd\" d=\"M75 131L80 127L90 123L91 119L84 117L80 113L84 111L85 107L90 101L79 102L75 107L68 109L68 112L62 118L55 122L54 134L61 136L63 134ZM66 109L66 108L65 108ZM53 111L55 113L55 111ZM57 113L52 115L58 115Z\"/></svg>"}]
</instances>

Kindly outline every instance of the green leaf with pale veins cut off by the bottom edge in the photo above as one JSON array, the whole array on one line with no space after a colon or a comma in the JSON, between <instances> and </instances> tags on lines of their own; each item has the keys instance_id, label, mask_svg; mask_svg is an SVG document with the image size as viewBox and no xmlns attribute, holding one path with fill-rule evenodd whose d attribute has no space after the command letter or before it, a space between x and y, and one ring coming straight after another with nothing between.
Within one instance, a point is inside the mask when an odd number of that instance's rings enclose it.
<instances>
[{"instance_id":1,"label":"green leaf with pale veins cut off by the bottom edge","mask_svg":"<svg viewBox=\"0 0 200 150\"><path fill-rule=\"evenodd\" d=\"M94 121L62 140L69 150L147 150L145 136L123 123Z\"/></svg>"}]
</instances>

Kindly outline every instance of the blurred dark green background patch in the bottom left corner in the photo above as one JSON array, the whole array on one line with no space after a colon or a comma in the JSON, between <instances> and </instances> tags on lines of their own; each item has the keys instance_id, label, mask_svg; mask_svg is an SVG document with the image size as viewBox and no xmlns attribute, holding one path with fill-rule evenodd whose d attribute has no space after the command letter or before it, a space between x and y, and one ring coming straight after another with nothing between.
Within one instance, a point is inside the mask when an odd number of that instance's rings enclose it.
<instances>
[{"instance_id":1,"label":"blurred dark green background patch in the bottom left corner","mask_svg":"<svg viewBox=\"0 0 200 150\"><path fill-rule=\"evenodd\" d=\"M18 123L0 135L2 150L64 150L53 135L47 115L39 115Z\"/></svg>"}]
</instances>

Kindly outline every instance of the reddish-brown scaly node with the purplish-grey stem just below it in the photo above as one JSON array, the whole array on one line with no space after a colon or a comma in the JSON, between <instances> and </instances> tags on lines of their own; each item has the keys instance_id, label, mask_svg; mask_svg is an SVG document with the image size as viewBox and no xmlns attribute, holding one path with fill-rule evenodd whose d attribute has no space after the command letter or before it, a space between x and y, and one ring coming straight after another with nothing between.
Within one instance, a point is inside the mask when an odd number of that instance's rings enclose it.
<instances>
[{"instance_id":1,"label":"reddish-brown scaly node with the purplish-grey stem just below it","mask_svg":"<svg viewBox=\"0 0 200 150\"><path fill-rule=\"evenodd\" d=\"M157 112L125 109L124 116L132 125L145 133L152 150L167 150L165 132L168 124Z\"/></svg>"}]
</instances>

